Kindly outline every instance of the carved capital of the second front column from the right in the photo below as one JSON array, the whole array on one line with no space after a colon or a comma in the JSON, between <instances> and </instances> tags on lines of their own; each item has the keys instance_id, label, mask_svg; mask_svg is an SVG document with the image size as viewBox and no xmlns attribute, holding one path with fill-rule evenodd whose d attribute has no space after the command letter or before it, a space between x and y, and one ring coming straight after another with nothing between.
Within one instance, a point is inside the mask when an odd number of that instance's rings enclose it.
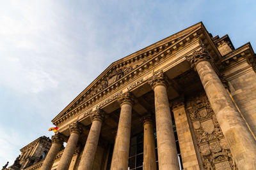
<instances>
[{"instance_id":1,"label":"carved capital of the second front column from the right","mask_svg":"<svg viewBox=\"0 0 256 170\"><path fill-rule=\"evenodd\" d=\"M168 87L168 78L164 75L163 70L159 73L156 73L152 76L152 78L148 79L148 83L154 90L157 85L164 85L165 87Z\"/></svg>"}]
</instances>

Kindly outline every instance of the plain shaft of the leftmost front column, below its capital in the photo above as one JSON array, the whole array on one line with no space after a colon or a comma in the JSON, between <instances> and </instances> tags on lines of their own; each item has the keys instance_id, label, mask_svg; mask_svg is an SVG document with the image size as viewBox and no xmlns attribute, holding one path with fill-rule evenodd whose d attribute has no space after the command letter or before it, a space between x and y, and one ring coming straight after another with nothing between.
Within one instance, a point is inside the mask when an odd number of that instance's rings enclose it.
<instances>
[{"instance_id":1,"label":"plain shaft of the leftmost front column, below its capital","mask_svg":"<svg viewBox=\"0 0 256 170\"><path fill-rule=\"evenodd\" d=\"M61 143L52 143L52 146L45 157L41 170L52 169L52 164L54 163L57 153L60 151L61 145Z\"/></svg>"}]
</instances>

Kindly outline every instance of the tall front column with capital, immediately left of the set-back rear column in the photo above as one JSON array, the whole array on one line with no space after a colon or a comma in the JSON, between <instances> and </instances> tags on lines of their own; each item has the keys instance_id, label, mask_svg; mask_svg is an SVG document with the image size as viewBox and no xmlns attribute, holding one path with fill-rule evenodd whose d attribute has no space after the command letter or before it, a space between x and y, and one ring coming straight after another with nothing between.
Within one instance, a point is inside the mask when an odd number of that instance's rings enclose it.
<instances>
[{"instance_id":1,"label":"tall front column with capital, immediately left of the set-back rear column","mask_svg":"<svg viewBox=\"0 0 256 170\"><path fill-rule=\"evenodd\" d=\"M121 106L120 118L116 134L115 146L111 162L111 170L128 169L129 148L131 138L132 96L126 92L118 99Z\"/></svg>"}]
</instances>

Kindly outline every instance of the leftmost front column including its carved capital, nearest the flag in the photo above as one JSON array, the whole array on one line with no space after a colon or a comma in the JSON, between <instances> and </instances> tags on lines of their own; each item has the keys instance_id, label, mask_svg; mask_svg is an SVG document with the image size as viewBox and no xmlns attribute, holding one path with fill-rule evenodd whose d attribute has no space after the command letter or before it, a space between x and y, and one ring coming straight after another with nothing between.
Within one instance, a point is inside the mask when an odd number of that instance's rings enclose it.
<instances>
[{"instance_id":1,"label":"leftmost front column including its carved capital, nearest the flag","mask_svg":"<svg viewBox=\"0 0 256 170\"><path fill-rule=\"evenodd\" d=\"M44 163L40 168L41 170L52 169L52 164L54 163L56 155L60 151L61 146L63 145L63 141L64 140L59 132L52 136L52 146L45 157Z\"/></svg>"}]
</instances>

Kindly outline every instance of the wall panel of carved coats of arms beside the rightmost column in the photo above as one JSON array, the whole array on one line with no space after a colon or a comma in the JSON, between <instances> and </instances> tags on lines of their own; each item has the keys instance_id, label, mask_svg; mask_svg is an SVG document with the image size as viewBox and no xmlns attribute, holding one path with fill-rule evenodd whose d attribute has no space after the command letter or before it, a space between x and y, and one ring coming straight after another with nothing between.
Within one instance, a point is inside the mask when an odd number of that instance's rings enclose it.
<instances>
[{"instance_id":1,"label":"wall panel of carved coats of arms beside the rightmost column","mask_svg":"<svg viewBox=\"0 0 256 170\"><path fill-rule=\"evenodd\" d=\"M237 169L230 148L205 93L186 102L205 169Z\"/></svg>"}]
</instances>

